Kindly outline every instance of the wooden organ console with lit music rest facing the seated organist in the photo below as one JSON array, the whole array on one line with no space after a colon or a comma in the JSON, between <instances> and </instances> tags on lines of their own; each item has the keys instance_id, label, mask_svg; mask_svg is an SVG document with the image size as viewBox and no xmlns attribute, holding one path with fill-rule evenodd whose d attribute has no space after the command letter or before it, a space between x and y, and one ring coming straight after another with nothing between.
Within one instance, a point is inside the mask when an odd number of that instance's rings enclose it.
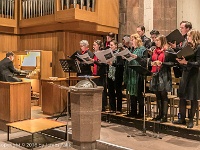
<instances>
[{"instance_id":1,"label":"wooden organ console with lit music rest facing the seated organist","mask_svg":"<svg viewBox=\"0 0 200 150\"><path fill-rule=\"evenodd\" d=\"M14 52L13 64L16 69L22 70L18 77L25 82L31 82L33 93L40 93L41 79L52 76L52 51L26 50ZM6 52L0 52L0 60L5 58ZM39 101L39 104L41 101Z\"/></svg>"}]
</instances>

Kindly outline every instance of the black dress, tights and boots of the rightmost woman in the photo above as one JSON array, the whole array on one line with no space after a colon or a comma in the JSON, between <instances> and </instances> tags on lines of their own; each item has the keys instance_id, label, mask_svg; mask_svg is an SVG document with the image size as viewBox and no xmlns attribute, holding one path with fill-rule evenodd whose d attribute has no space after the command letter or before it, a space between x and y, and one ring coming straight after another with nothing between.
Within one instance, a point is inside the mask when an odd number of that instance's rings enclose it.
<instances>
[{"instance_id":1,"label":"black dress, tights and boots of the rightmost woman","mask_svg":"<svg viewBox=\"0 0 200 150\"><path fill-rule=\"evenodd\" d=\"M188 128L193 127L193 118L197 109L197 100L200 99L199 87L200 87L200 45L197 49L194 50L195 55L188 60L187 65L182 65L183 74L179 85L179 112L180 119L176 122L184 122L186 117L186 100L191 100L191 112L190 112L190 121Z\"/></svg>"}]
</instances>

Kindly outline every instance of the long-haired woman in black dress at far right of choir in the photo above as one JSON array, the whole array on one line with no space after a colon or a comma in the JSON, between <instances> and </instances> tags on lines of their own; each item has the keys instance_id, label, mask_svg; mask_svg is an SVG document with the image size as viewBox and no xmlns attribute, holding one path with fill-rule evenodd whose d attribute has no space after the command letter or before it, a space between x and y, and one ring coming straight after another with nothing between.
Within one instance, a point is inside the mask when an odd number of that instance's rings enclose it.
<instances>
[{"instance_id":1,"label":"long-haired woman in black dress at far right of choir","mask_svg":"<svg viewBox=\"0 0 200 150\"><path fill-rule=\"evenodd\" d=\"M191 111L187 128L193 128L194 115L197 109L197 100L200 99L200 32L198 30L190 30L187 33L187 42L194 49L194 54L188 59L177 59L183 67L182 78L179 86L180 97L180 118L175 124L186 124L186 100L191 100Z\"/></svg>"}]
</instances>

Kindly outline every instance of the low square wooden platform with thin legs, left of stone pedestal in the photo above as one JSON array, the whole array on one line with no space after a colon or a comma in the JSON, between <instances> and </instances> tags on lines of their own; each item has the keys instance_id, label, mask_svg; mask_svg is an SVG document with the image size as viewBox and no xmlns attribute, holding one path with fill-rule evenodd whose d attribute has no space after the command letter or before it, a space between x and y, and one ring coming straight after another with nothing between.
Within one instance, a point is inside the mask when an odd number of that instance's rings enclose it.
<instances>
[{"instance_id":1,"label":"low square wooden platform with thin legs, left of stone pedestal","mask_svg":"<svg viewBox=\"0 0 200 150\"><path fill-rule=\"evenodd\" d=\"M39 118L39 119L32 119L32 120L24 120L24 121L8 123L6 125L8 127L8 131L7 131L7 140L8 141L10 140L10 137L9 137L10 128L16 128L16 129L31 133L32 139L31 139L30 145L32 146L32 149L34 148L33 135L35 133L40 133L42 131L46 131L49 129L55 129L55 128L66 126L65 140L67 137L67 124L58 122L58 121L54 121L54 120L50 120L50 119Z\"/></svg>"}]
</instances>

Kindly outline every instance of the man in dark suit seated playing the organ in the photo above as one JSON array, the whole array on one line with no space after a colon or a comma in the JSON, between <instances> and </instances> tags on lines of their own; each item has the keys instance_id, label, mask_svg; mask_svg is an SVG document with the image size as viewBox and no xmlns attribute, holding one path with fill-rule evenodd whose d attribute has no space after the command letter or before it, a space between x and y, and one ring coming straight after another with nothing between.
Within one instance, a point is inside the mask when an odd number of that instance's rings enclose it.
<instances>
[{"instance_id":1,"label":"man in dark suit seated playing the organ","mask_svg":"<svg viewBox=\"0 0 200 150\"><path fill-rule=\"evenodd\" d=\"M21 82L20 78L14 76L14 73L20 74L21 72L13 66L14 53L6 53L6 57L0 61L0 81L5 82Z\"/></svg>"}]
</instances>

